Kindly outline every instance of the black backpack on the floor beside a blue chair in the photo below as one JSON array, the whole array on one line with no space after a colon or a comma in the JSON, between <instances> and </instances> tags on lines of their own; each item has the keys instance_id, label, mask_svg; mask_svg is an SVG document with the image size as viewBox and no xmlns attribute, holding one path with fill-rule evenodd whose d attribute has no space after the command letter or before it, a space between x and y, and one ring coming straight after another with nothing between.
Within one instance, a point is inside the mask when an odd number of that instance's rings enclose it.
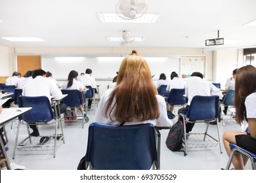
<instances>
[{"instance_id":1,"label":"black backpack on the floor beside a blue chair","mask_svg":"<svg viewBox=\"0 0 256 183\"><path fill-rule=\"evenodd\" d=\"M165 144L167 145L167 148L169 148L171 151L182 151L182 141L184 136L184 127L183 122L179 121L175 123L167 136L167 139L165 141Z\"/></svg>"}]
</instances>

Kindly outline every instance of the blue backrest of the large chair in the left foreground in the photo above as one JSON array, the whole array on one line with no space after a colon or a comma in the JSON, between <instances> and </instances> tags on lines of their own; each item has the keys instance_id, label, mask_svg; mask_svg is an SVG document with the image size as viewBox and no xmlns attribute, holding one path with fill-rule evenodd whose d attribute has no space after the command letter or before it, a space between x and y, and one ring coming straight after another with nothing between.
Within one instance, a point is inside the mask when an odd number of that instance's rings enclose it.
<instances>
[{"instance_id":1,"label":"blue backrest of the large chair in the left foreground","mask_svg":"<svg viewBox=\"0 0 256 183\"><path fill-rule=\"evenodd\" d=\"M46 96L39 97L18 97L19 107L32 107L31 110L22 114L19 120L24 120L27 123L50 122L55 119L53 108Z\"/></svg>"}]
</instances>

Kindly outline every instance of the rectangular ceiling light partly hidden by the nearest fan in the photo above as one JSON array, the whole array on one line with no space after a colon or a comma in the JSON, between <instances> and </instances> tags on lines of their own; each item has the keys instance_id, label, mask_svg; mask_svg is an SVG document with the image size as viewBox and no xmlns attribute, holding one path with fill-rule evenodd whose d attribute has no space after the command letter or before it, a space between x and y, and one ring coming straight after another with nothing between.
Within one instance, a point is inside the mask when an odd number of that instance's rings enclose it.
<instances>
[{"instance_id":1,"label":"rectangular ceiling light partly hidden by the nearest fan","mask_svg":"<svg viewBox=\"0 0 256 183\"><path fill-rule=\"evenodd\" d=\"M120 18L115 12L98 12L98 18L101 22L114 22L114 23L154 23L158 18L157 13L146 13L140 18L133 20L125 20Z\"/></svg>"}]
</instances>

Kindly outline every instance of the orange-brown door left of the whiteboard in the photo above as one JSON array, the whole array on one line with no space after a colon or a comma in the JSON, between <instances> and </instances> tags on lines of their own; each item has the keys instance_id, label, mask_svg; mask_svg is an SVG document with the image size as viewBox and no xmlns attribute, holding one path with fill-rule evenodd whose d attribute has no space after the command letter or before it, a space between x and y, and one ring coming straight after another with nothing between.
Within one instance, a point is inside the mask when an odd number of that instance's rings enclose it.
<instances>
[{"instance_id":1,"label":"orange-brown door left of the whiteboard","mask_svg":"<svg viewBox=\"0 0 256 183\"><path fill-rule=\"evenodd\" d=\"M35 69L41 69L41 56L17 56L17 72L22 76Z\"/></svg>"}]
</instances>

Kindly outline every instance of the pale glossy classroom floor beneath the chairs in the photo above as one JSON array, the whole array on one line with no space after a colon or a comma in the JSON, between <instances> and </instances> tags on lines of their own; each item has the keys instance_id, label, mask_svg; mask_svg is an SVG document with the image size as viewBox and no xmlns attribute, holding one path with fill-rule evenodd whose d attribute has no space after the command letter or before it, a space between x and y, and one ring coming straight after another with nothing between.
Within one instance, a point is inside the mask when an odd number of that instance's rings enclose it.
<instances>
[{"instance_id":1,"label":"pale glossy classroom floor beneath the chairs","mask_svg":"<svg viewBox=\"0 0 256 183\"><path fill-rule=\"evenodd\" d=\"M79 160L85 155L87 146L87 129L91 122L94 122L95 115L93 111L88 112L90 118L89 123L85 124L82 129L81 124L67 125L64 124L65 143L57 142L56 158L53 158L53 151L47 152L19 152L16 151L14 161L20 165L26 166L28 170L74 170L77 168ZM230 116L224 116L226 124L220 123L221 138L225 130L242 131L241 127L230 120ZM175 121L175 120L174 120ZM16 136L17 125L14 123L11 129L11 124L6 126L9 142L9 151L7 156L12 158L14 148L14 140ZM210 125L209 130L215 131L216 126ZM196 124L193 131L204 129L204 124ZM39 129L41 135L52 129L49 127L41 127ZM228 156L222 145L223 153L221 154L219 147L209 148L207 150L189 151L187 156L182 152L171 152L166 145L168 129L161 130L161 169L162 170L220 170L221 167L226 167ZM26 133L26 128L22 127L21 133ZM248 166L248 169L251 167Z\"/></svg>"}]
</instances>

